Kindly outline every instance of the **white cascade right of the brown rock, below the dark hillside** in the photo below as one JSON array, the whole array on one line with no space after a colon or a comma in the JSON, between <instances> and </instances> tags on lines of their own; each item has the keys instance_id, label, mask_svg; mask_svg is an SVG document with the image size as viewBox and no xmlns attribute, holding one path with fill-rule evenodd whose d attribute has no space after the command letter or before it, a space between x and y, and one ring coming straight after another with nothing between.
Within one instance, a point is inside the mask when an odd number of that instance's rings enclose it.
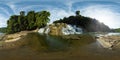
<instances>
[{"instance_id":1,"label":"white cascade right of the brown rock, below the dark hillside","mask_svg":"<svg viewBox=\"0 0 120 60\"><path fill-rule=\"evenodd\" d=\"M81 34L82 29L79 27L76 27L76 25L67 25L66 27L62 28L62 33L64 35L69 35L69 34Z\"/></svg>"}]
</instances>

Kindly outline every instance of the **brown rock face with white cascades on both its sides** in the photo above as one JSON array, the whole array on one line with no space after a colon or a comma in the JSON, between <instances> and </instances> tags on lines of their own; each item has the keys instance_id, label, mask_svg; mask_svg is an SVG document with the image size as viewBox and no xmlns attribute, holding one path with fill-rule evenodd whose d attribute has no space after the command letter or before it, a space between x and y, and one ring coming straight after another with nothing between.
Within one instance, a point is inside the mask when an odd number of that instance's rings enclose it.
<instances>
[{"instance_id":1,"label":"brown rock face with white cascades on both its sides","mask_svg":"<svg viewBox=\"0 0 120 60\"><path fill-rule=\"evenodd\" d=\"M38 32L44 34L50 34L50 35L70 35L70 34L81 34L82 29L75 25L56 23L41 28Z\"/></svg>"}]
</instances>

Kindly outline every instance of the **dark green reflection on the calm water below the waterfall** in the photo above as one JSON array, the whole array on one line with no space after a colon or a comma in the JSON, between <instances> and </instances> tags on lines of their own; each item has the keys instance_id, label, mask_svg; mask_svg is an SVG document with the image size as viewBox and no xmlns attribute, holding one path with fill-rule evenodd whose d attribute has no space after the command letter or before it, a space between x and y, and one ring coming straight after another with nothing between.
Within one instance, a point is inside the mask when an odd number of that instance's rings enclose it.
<instances>
[{"instance_id":1,"label":"dark green reflection on the calm water below the waterfall","mask_svg":"<svg viewBox=\"0 0 120 60\"><path fill-rule=\"evenodd\" d=\"M85 36L85 35L84 35ZM68 36L67 36L68 37ZM85 40L85 39L87 40ZM26 37L29 44L33 49L48 50L48 51L62 51L69 50L74 47L81 47L94 42L95 40L90 40L89 38L81 38L81 40L68 40L62 38L61 36L51 36L51 35L41 35L38 33L31 33ZM84 40L82 40L84 39ZM45 51L44 50L44 51Z\"/></svg>"}]
</instances>

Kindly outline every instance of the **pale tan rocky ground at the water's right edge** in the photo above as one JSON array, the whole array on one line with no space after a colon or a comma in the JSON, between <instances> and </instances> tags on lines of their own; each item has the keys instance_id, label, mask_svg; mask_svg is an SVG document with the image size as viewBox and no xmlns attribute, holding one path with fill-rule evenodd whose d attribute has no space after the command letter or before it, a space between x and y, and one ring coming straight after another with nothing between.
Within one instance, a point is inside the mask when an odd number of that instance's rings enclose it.
<instances>
[{"instance_id":1,"label":"pale tan rocky ground at the water's right edge","mask_svg":"<svg viewBox=\"0 0 120 60\"><path fill-rule=\"evenodd\" d=\"M120 35L101 35L97 41L104 48L120 48Z\"/></svg>"}]
</instances>

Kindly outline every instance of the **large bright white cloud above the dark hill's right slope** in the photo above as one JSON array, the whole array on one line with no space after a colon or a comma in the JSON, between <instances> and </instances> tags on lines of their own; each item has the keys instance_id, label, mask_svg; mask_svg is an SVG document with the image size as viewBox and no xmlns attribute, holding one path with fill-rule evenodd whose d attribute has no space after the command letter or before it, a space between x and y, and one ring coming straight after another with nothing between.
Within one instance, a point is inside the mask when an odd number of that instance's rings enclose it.
<instances>
[{"instance_id":1,"label":"large bright white cloud above the dark hill's right slope","mask_svg":"<svg viewBox=\"0 0 120 60\"><path fill-rule=\"evenodd\" d=\"M84 16L92 17L104 24L108 25L110 28L119 28L120 13L109 8L110 6L88 6L81 10L81 14Z\"/></svg>"}]
</instances>

